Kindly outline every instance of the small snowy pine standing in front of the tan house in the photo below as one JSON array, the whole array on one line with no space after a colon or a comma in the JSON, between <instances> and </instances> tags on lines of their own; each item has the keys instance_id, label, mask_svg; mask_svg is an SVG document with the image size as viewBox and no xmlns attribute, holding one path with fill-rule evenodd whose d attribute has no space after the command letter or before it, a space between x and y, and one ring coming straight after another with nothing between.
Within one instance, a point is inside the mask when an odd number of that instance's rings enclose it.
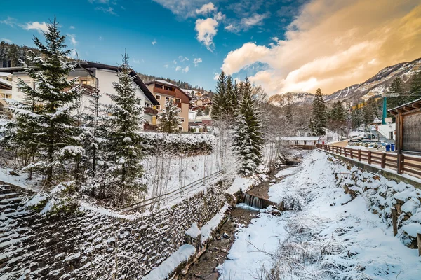
<instances>
[{"instance_id":1,"label":"small snowy pine standing in front of the tan house","mask_svg":"<svg viewBox=\"0 0 421 280\"><path fill-rule=\"evenodd\" d=\"M173 99L168 99L165 104L165 109L158 114L159 130L166 133L180 132L180 108L173 102ZM199 115L198 115L199 116Z\"/></svg>"}]
</instances>

